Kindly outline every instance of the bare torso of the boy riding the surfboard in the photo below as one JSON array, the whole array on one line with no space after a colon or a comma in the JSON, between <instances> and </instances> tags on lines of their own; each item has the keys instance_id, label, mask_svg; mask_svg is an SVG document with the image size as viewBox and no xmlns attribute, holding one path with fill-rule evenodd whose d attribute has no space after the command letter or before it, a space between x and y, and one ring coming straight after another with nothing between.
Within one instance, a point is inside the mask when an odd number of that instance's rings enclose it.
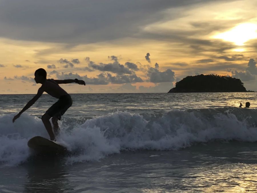
<instances>
[{"instance_id":1,"label":"bare torso of the boy riding the surfboard","mask_svg":"<svg viewBox=\"0 0 257 193\"><path fill-rule=\"evenodd\" d=\"M39 89L42 89L54 98L60 98L61 96L68 94L54 79L46 79Z\"/></svg>"}]
</instances>

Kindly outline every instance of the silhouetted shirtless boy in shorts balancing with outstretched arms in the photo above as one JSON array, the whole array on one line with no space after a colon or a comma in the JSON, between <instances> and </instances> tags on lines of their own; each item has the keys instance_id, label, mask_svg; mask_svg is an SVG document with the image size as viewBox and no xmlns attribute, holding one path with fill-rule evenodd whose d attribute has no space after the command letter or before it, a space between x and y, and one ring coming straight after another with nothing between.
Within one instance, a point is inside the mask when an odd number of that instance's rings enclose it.
<instances>
[{"instance_id":1,"label":"silhouetted shirtless boy in shorts balancing with outstretched arms","mask_svg":"<svg viewBox=\"0 0 257 193\"><path fill-rule=\"evenodd\" d=\"M72 105L71 96L59 86L59 84L67 84L67 83L77 83L81 85L86 85L85 81L76 79L68 79L68 80L54 80L47 79L47 72L43 68L39 68L35 71L34 80L36 83L42 84L42 86L38 89L37 94L26 104L26 106L14 116L13 122L18 119L21 114L30 108L43 94L43 92L48 93L54 98L58 98L59 100L53 104L41 117L43 124L50 136L50 140L56 140L55 136L59 133L58 120L61 120L61 116L67 111L67 109ZM52 118L53 128L50 123L50 118ZM53 132L54 130L54 132ZM54 134L55 133L55 134Z\"/></svg>"}]
</instances>

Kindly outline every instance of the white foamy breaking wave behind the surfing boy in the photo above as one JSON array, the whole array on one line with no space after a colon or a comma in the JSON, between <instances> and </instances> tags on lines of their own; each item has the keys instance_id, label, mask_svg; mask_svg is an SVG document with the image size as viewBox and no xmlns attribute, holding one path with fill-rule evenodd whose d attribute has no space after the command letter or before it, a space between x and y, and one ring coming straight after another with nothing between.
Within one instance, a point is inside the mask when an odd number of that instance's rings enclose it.
<instances>
[{"instance_id":1,"label":"white foamy breaking wave behind the surfing boy","mask_svg":"<svg viewBox=\"0 0 257 193\"><path fill-rule=\"evenodd\" d=\"M49 138L41 119L24 113L12 123L13 116L0 116L0 163L5 166L26 161L30 138ZM76 152L66 158L67 164L97 161L121 150L178 150L212 140L257 141L256 118L255 109L239 108L172 110L147 116L115 112L71 129L61 125L58 142Z\"/></svg>"}]
</instances>

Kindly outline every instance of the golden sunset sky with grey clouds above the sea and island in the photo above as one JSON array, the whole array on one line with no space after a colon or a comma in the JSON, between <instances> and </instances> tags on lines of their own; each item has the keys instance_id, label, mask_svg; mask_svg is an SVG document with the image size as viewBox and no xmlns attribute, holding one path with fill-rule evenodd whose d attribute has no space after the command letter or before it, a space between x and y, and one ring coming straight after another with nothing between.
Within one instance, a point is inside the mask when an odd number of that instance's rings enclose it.
<instances>
[{"instance_id":1,"label":"golden sunset sky with grey clouds above the sea and island","mask_svg":"<svg viewBox=\"0 0 257 193\"><path fill-rule=\"evenodd\" d=\"M257 91L257 1L0 0L0 94L37 93L38 68L68 93L168 92L228 75Z\"/></svg>"}]
</instances>

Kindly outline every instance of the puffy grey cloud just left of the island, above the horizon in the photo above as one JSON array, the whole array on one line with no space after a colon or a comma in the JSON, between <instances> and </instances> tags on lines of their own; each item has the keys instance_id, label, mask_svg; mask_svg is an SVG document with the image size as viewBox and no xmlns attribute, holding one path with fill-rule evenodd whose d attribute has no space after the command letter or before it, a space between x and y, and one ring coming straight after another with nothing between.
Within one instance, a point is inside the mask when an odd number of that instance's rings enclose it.
<instances>
[{"instance_id":1,"label":"puffy grey cloud just left of the island, above the horizon","mask_svg":"<svg viewBox=\"0 0 257 193\"><path fill-rule=\"evenodd\" d=\"M173 82L175 73L171 69L160 72L158 69L150 67L148 68L147 76L149 81L153 83Z\"/></svg>"}]
</instances>

